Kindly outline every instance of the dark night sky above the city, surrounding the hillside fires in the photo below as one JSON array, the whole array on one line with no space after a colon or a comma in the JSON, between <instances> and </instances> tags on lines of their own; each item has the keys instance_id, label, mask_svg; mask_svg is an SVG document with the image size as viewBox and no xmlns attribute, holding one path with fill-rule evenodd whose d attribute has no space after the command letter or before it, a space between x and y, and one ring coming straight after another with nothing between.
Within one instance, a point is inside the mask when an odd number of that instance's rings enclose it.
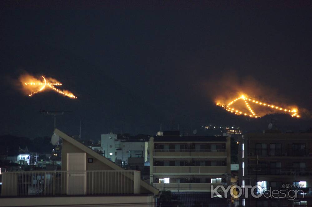
<instances>
[{"instance_id":1,"label":"dark night sky above the city, surrounding the hillside fires","mask_svg":"<svg viewBox=\"0 0 312 207\"><path fill-rule=\"evenodd\" d=\"M312 110L309 3L108 5L3 3L0 134L50 136L53 118L40 108L73 111L57 127L78 134L81 117L83 137L95 139L213 123L223 115L209 91L245 78ZM12 84L23 71L58 79L78 99L24 96Z\"/></svg>"}]
</instances>

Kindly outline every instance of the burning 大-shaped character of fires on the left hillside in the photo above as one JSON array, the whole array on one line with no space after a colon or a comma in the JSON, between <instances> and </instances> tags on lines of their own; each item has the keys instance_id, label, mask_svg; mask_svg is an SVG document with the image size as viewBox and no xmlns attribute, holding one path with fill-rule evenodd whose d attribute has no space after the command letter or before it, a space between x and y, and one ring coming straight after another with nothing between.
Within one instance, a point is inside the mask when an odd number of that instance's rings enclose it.
<instances>
[{"instance_id":1,"label":"burning \u5927-shaped character of fires on the left hillside","mask_svg":"<svg viewBox=\"0 0 312 207\"><path fill-rule=\"evenodd\" d=\"M44 76L41 76L41 78L42 78L42 81L36 80L35 82L32 81L32 82L24 83L25 84L24 87L27 87L27 88L29 88L28 86L33 86L33 87L41 86L37 91L32 92L28 96L31 97L31 96L43 91L46 87L49 87L50 89L53 89L54 91L56 91L60 94L63 94L63 95L70 97L72 99L77 99L77 97L74 96L74 94L72 94L71 92L66 91L66 90L60 90L60 89L57 89L54 87L55 85L62 85L61 83L59 83L57 81L56 81L56 83L50 82L49 80L46 80L46 78Z\"/></svg>"}]
</instances>

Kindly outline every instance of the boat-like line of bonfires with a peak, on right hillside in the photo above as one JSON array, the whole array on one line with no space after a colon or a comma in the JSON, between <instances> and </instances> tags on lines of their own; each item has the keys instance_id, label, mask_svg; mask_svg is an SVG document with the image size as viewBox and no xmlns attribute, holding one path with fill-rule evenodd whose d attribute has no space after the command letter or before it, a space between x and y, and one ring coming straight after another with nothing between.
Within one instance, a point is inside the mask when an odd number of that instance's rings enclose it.
<instances>
[{"instance_id":1,"label":"boat-like line of bonfires with a peak, on right hillside","mask_svg":"<svg viewBox=\"0 0 312 207\"><path fill-rule=\"evenodd\" d=\"M275 105L272 105L272 104L263 103L261 101L257 101L257 100L246 98L246 97L247 97L247 95L241 95L240 97L238 97L236 99L233 99L227 105L222 105L221 103L216 103L216 104L217 104L217 106L220 106L220 107L224 108L228 112L235 113L236 115L242 115L243 114L245 116L250 116L250 117L253 117L253 118L259 118L261 116L256 115L256 113L252 110L252 108L250 106L251 103L252 104L261 105L262 107L275 108L275 109L277 109L279 111L282 111L284 113L289 113L291 115L291 117L300 118L300 115L298 114L299 113L298 109L296 109L296 108L292 108L292 109L290 109L290 108L282 108L280 106L275 106ZM237 109L233 108L232 104L234 104L236 101L239 101L239 100L245 102L245 106L248 109L249 114L246 113L246 112L242 112L240 110L237 110Z\"/></svg>"}]
</instances>

